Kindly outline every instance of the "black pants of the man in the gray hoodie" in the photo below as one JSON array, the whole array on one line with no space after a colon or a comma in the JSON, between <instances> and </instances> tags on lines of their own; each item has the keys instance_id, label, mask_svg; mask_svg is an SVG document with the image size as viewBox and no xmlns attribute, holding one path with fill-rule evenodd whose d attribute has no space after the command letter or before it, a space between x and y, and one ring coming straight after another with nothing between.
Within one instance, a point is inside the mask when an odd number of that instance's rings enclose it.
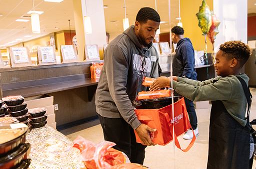
<instances>
[{"instance_id":1,"label":"black pants of the man in the gray hoodie","mask_svg":"<svg viewBox=\"0 0 256 169\"><path fill-rule=\"evenodd\" d=\"M98 115L105 141L116 144L113 148L125 153L131 163L143 165L146 146L136 143L131 126L123 119L111 119Z\"/></svg>"}]
</instances>

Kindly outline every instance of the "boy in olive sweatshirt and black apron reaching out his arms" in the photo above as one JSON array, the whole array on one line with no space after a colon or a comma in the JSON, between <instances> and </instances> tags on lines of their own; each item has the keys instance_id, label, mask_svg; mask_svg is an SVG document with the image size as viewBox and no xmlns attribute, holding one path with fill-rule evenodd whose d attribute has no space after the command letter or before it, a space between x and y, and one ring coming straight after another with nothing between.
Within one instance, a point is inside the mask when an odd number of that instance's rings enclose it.
<instances>
[{"instance_id":1,"label":"boy in olive sweatshirt and black apron reaching out his arms","mask_svg":"<svg viewBox=\"0 0 256 169\"><path fill-rule=\"evenodd\" d=\"M245 118L247 100L241 78L249 78L241 68L251 54L241 41L219 46L214 64L217 77L202 82L173 76L173 89L192 101L211 100L207 169L249 169L249 124ZM150 90L170 85L170 78L159 77Z\"/></svg>"}]
</instances>

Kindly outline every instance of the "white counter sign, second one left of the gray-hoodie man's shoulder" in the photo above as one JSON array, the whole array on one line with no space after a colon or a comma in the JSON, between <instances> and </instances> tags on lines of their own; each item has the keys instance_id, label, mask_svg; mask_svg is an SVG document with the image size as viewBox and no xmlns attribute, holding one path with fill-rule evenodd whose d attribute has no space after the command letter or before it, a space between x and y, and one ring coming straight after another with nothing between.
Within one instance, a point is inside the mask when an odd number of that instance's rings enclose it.
<instances>
[{"instance_id":1,"label":"white counter sign, second one left of the gray-hoodie man's shoulder","mask_svg":"<svg viewBox=\"0 0 256 169\"><path fill-rule=\"evenodd\" d=\"M61 45L60 46L60 59L61 63L78 62L79 58L76 53L74 45Z\"/></svg>"}]
</instances>

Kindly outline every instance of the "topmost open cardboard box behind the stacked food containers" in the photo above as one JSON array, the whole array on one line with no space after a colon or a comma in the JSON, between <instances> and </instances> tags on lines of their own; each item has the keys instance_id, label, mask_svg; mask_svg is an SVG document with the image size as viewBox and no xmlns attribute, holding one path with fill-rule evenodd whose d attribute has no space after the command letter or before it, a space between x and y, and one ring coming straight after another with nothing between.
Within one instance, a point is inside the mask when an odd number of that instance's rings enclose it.
<instances>
[{"instance_id":1,"label":"topmost open cardboard box behind the stacked food containers","mask_svg":"<svg viewBox=\"0 0 256 169\"><path fill-rule=\"evenodd\" d=\"M53 96L50 95L37 95L26 97L24 102L27 103L27 108L32 109L36 107L46 107L53 105Z\"/></svg>"}]
</instances>

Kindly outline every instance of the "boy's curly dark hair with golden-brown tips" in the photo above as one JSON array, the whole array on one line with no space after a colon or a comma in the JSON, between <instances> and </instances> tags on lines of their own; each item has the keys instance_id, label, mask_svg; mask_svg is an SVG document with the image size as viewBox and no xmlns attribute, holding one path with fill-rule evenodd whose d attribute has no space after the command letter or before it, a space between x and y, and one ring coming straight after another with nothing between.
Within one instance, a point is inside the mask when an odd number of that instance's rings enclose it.
<instances>
[{"instance_id":1,"label":"boy's curly dark hair with golden-brown tips","mask_svg":"<svg viewBox=\"0 0 256 169\"><path fill-rule=\"evenodd\" d=\"M219 46L219 50L223 51L223 57L227 60L235 58L240 67L248 60L251 55L250 47L240 40L227 41Z\"/></svg>"}]
</instances>

